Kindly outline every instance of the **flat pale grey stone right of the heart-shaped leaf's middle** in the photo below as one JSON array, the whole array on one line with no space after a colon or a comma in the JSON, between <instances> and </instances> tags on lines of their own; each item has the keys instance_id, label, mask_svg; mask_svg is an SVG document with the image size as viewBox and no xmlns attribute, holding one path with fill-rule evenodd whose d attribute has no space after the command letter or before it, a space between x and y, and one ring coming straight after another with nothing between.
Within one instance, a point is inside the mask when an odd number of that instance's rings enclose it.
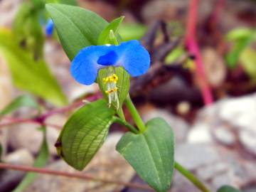
<instances>
[{"instance_id":1,"label":"flat pale grey stone right of the heart-shaped leaf's middle","mask_svg":"<svg viewBox=\"0 0 256 192\"><path fill-rule=\"evenodd\" d=\"M188 170L198 169L201 166L220 161L217 149L210 144L178 144L175 158Z\"/></svg>"}]
</instances>

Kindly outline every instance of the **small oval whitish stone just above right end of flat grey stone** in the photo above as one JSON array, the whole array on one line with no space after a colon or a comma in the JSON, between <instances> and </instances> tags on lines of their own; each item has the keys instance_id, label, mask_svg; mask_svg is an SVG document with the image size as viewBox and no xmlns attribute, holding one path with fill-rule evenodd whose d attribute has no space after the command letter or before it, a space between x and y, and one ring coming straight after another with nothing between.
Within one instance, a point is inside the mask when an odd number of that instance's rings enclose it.
<instances>
[{"instance_id":1,"label":"small oval whitish stone just above right end of flat grey stone","mask_svg":"<svg viewBox=\"0 0 256 192\"><path fill-rule=\"evenodd\" d=\"M235 134L226 127L213 129L213 133L218 142L229 146L235 144Z\"/></svg>"}]
</instances>

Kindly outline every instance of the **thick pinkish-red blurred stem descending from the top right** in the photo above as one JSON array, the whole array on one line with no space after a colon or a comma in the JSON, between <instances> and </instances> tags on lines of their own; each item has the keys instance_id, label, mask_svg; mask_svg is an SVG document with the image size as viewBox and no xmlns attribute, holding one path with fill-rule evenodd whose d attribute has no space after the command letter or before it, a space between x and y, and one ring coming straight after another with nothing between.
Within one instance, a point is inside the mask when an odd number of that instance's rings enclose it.
<instances>
[{"instance_id":1,"label":"thick pinkish-red blurred stem descending from the top right","mask_svg":"<svg viewBox=\"0 0 256 192\"><path fill-rule=\"evenodd\" d=\"M206 74L203 68L201 53L198 48L198 43L196 42L195 39L197 10L198 0L191 0L188 10L188 22L186 29L185 44L186 48L188 49L188 52L195 58L194 62L196 64L196 74L198 76L203 102L205 105L210 105L213 103L213 95L206 80Z\"/></svg>"}]
</instances>

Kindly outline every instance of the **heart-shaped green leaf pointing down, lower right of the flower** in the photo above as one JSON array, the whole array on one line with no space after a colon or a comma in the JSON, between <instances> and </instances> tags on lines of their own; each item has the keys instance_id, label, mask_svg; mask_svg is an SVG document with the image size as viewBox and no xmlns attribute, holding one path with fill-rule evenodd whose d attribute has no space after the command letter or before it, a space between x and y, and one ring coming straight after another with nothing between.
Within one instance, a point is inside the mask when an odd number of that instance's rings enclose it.
<instances>
[{"instance_id":1,"label":"heart-shaped green leaf pointing down, lower right of the flower","mask_svg":"<svg viewBox=\"0 0 256 192\"><path fill-rule=\"evenodd\" d=\"M167 191L174 171L174 133L164 119L146 123L142 134L127 132L117 144L124 159L156 191Z\"/></svg>"}]
</instances>

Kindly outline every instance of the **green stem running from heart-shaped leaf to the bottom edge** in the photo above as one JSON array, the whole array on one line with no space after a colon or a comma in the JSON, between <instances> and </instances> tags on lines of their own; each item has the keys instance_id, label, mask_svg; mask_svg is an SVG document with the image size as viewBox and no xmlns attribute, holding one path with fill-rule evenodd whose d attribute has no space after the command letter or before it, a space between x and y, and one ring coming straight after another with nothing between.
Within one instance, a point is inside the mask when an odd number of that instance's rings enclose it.
<instances>
[{"instance_id":1,"label":"green stem running from heart-shaped leaf to the bottom edge","mask_svg":"<svg viewBox=\"0 0 256 192\"><path fill-rule=\"evenodd\" d=\"M178 170L183 176L188 178L188 180L191 181L191 183L193 183L193 185L199 188L201 191L210 192L210 190L205 185L203 185L203 183L201 183L201 181L199 181L198 178L196 178L196 176L191 174L191 172L189 172L187 169L185 169L177 162L174 163L174 168Z\"/></svg>"}]
</instances>

